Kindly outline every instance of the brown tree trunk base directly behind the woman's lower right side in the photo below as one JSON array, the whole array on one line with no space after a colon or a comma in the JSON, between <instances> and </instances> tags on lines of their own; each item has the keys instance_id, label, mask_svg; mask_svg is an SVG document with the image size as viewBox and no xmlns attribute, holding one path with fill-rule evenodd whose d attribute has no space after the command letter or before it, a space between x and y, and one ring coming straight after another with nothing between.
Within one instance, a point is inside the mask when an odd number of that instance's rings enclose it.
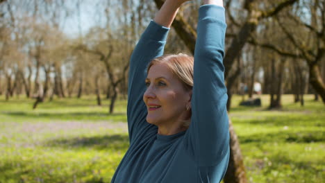
<instances>
[{"instance_id":1,"label":"brown tree trunk base directly behind the woman's lower right side","mask_svg":"<svg viewBox=\"0 0 325 183\"><path fill-rule=\"evenodd\" d=\"M230 158L226 175L224 176L225 183L246 183L247 177L245 172L244 161L240 151L240 143L233 129L233 124L229 120L230 133Z\"/></svg>"}]
</instances>

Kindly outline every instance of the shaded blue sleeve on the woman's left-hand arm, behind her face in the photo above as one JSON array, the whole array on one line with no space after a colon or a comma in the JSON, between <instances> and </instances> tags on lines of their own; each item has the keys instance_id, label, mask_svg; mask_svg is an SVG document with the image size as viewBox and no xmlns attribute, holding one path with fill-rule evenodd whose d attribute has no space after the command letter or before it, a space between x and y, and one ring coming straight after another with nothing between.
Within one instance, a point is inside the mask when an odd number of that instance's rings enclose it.
<instances>
[{"instance_id":1,"label":"shaded blue sleeve on the woman's left-hand arm, behind her face","mask_svg":"<svg viewBox=\"0 0 325 183\"><path fill-rule=\"evenodd\" d=\"M151 21L144 30L140 40L131 55L130 69L128 72L128 134L130 143L132 139L146 125L147 107L142 96L146 90L147 65L153 58L163 55L169 28L160 26Z\"/></svg>"}]
</instances>

